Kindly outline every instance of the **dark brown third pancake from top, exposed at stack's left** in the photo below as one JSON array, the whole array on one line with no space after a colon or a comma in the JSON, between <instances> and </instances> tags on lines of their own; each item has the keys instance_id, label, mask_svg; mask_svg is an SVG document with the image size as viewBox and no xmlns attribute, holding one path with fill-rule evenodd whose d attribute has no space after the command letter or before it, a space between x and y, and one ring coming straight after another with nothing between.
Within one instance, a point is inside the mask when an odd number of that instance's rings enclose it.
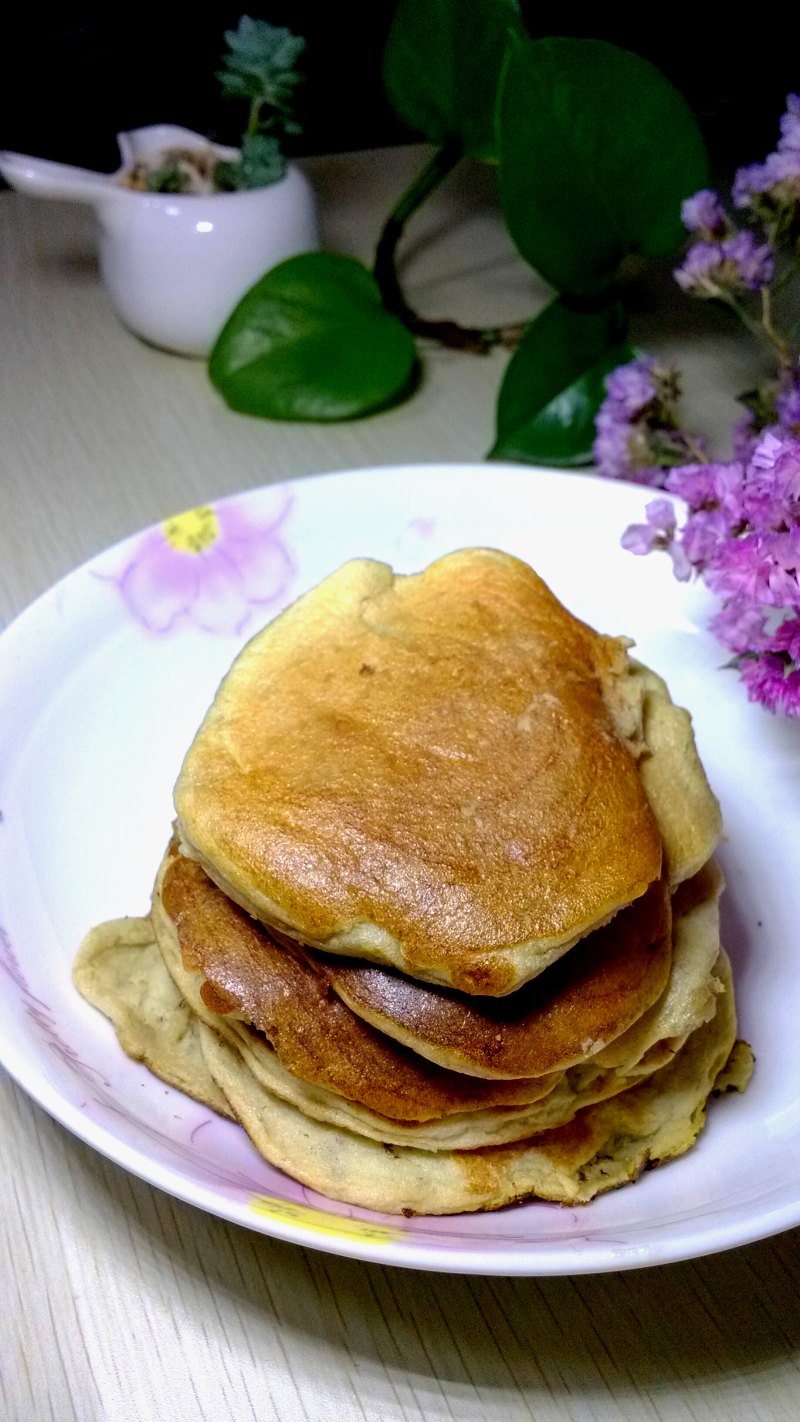
<instances>
[{"instance_id":1,"label":"dark brown third pancake from top, exposed at stack's left","mask_svg":"<svg viewBox=\"0 0 800 1422\"><path fill-rule=\"evenodd\" d=\"M443 1150L523 1139L661 1065L634 1064L624 1072L590 1061L527 1084L440 1071L331 1003L301 957L271 943L198 865L175 852L159 872L152 917L166 967L192 1011L240 1052L256 1079L313 1119L374 1140ZM691 943L691 927L682 939ZM584 1058L595 1045L584 1042ZM536 1088L527 1101L526 1086Z\"/></svg>"}]
</instances>

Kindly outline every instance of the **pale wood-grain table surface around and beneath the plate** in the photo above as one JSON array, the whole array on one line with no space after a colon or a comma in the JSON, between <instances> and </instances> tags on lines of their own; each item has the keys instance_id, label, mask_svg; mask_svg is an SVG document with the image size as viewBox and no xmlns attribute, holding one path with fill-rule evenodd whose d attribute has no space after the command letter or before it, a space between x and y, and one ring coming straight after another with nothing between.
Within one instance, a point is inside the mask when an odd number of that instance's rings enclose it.
<instances>
[{"instance_id":1,"label":"pale wood-grain table surface around and beneath the plate","mask_svg":"<svg viewBox=\"0 0 800 1422\"><path fill-rule=\"evenodd\" d=\"M368 257L419 164L306 164L327 243ZM179 509L324 469L480 459L506 356L426 356L412 402L344 425L227 411L199 361L107 306L87 209L0 195L0 619ZM546 292L512 250L492 175L456 172L405 245L431 316L514 321ZM637 280L635 276L632 280ZM658 282L637 334L686 373L720 451L757 375L729 327ZM126 1175L0 1074L0 1416L764 1419L800 1416L797 1233L705 1260L571 1278L360 1264L229 1226Z\"/></svg>"}]
</instances>

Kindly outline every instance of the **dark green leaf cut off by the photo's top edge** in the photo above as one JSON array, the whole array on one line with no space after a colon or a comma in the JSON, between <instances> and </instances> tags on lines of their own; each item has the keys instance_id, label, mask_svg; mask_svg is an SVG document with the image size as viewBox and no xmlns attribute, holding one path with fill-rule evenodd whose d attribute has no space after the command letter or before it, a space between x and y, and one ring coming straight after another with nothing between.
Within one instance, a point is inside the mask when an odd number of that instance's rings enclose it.
<instances>
[{"instance_id":1,"label":"dark green leaf cut off by the photo's top edge","mask_svg":"<svg viewBox=\"0 0 800 1422\"><path fill-rule=\"evenodd\" d=\"M399 0L384 84L399 117L432 144L496 161L494 109L516 0Z\"/></svg>"}]
</instances>

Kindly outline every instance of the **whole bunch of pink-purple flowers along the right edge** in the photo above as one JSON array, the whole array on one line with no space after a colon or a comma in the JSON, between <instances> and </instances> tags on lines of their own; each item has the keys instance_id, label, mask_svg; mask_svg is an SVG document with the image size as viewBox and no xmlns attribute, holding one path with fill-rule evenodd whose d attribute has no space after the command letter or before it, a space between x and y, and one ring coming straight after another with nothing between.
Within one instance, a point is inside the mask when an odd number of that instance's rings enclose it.
<instances>
[{"instance_id":1,"label":"whole bunch of pink-purple flowers along the right edge","mask_svg":"<svg viewBox=\"0 0 800 1422\"><path fill-rule=\"evenodd\" d=\"M733 459L710 464L681 427L678 373L651 358L622 365L605 383L595 464L685 499L682 528L669 499L655 499L624 546L664 549L676 577L702 577L722 599L712 627L750 698L800 715L800 363L774 307L800 272L800 97L787 98L776 152L736 173L728 206L703 189L681 215L692 240L678 286L733 310L769 344L776 374L739 397Z\"/></svg>"}]
</instances>

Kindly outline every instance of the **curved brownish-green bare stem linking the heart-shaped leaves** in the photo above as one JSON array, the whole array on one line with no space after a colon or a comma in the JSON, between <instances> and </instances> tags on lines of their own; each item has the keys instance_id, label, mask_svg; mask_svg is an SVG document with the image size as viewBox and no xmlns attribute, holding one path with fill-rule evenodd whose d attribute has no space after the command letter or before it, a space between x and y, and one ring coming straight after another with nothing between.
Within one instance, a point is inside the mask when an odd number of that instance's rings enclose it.
<instances>
[{"instance_id":1,"label":"curved brownish-green bare stem linking the heart-shaped leaves","mask_svg":"<svg viewBox=\"0 0 800 1422\"><path fill-rule=\"evenodd\" d=\"M463 149L460 142L450 139L442 148L436 149L422 172L406 188L398 205L389 213L378 239L372 276L381 289L387 310L399 317L404 326L408 326L409 331L415 336L429 337L439 341L440 346L449 346L452 350L486 356L493 346L516 346L521 340L526 328L524 324L482 328L459 326L458 321L449 320L426 320L426 317L418 316L408 304L396 272L396 249L409 218L435 192L462 156Z\"/></svg>"}]
</instances>

